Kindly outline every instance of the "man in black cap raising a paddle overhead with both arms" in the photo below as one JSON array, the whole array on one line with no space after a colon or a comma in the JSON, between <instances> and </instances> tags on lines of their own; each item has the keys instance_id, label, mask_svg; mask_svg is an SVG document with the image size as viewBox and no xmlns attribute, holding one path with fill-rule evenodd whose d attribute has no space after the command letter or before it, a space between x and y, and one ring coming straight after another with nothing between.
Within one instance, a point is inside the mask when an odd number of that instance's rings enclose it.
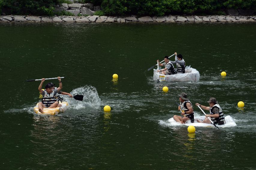
<instances>
[{"instance_id":1,"label":"man in black cap raising a paddle overhead with both arms","mask_svg":"<svg viewBox=\"0 0 256 170\"><path fill-rule=\"evenodd\" d=\"M52 85L51 83L48 83L45 86L45 90L42 90L42 85L44 82L44 78L42 78L41 83L38 87L39 92L42 94L43 98L42 101L38 103L38 110L39 112L43 113L44 108L54 108L54 107L58 107L58 101L56 99L56 94L58 93L58 91L60 91L62 89L62 82L61 82L61 78L58 77L59 80L59 87L55 90L52 90Z\"/></svg>"}]
</instances>

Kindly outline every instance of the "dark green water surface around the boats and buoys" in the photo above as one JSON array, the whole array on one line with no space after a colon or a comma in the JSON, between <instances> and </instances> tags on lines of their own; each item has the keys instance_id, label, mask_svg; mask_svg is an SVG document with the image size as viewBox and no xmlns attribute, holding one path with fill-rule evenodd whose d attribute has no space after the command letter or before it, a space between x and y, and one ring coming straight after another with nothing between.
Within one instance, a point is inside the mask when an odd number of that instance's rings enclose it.
<instances>
[{"instance_id":1,"label":"dark green water surface around the boats and buoys","mask_svg":"<svg viewBox=\"0 0 256 170\"><path fill-rule=\"evenodd\" d=\"M0 23L0 169L255 169L255 30L256 23ZM174 52L200 81L152 80L147 69ZM56 116L35 115L40 82L24 80L57 76L66 77L63 91L86 99L66 99L70 108ZM237 127L189 134L170 125L181 92L193 105L215 97Z\"/></svg>"}]
</instances>

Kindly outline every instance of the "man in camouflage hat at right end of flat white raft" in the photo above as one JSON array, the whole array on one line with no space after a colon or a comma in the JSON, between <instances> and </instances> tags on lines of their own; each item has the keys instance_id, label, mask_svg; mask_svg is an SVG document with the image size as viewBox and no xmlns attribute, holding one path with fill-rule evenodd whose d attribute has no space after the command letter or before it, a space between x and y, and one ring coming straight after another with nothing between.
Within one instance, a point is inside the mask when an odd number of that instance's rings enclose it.
<instances>
[{"instance_id":1,"label":"man in camouflage hat at right end of flat white raft","mask_svg":"<svg viewBox=\"0 0 256 170\"><path fill-rule=\"evenodd\" d=\"M197 120L197 122L211 124L211 121L207 118L207 117L210 117L214 124L218 124L218 125L225 124L226 122L225 122L224 114L222 112L221 106L218 104L216 99L214 97L211 97L210 100L207 102L209 103L210 107L206 107L206 106L200 105L199 103L196 103L196 105L199 105L200 108L210 111L209 115L205 115L206 118L203 121Z\"/></svg>"}]
</instances>

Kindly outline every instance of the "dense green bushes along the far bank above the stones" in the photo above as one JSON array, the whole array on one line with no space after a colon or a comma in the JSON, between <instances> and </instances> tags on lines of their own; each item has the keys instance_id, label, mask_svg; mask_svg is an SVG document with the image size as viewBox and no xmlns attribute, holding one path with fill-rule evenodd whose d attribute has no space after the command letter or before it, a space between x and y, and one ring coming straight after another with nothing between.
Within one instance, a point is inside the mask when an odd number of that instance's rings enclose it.
<instances>
[{"instance_id":1,"label":"dense green bushes along the far bank above the stones","mask_svg":"<svg viewBox=\"0 0 256 170\"><path fill-rule=\"evenodd\" d=\"M197 14L221 15L224 9L256 9L256 0L75 0L101 5L106 15ZM0 12L16 15L53 15L54 6L69 0L0 0Z\"/></svg>"}]
</instances>

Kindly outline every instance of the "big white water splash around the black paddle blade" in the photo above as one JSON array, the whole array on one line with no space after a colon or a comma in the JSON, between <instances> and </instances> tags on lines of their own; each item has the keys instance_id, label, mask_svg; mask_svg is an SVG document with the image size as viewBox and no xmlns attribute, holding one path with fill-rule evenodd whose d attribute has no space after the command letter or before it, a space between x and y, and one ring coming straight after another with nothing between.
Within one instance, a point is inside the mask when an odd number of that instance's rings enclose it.
<instances>
[{"instance_id":1,"label":"big white water splash around the black paddle blade","mask_svg":"<svg viewBox=\"0 0 256 170\"><path fill-rule=\"evenodd\" d=\"M97 90L93 86L79 87L71 91L73 96L79 94L83 95L83 101L75 100L74 98L64 98L64 101L69 103L69 107L73 109L83 109L91 107L95 109L100 108L101 99L98 96Z\"/></svg>"}]
</instances>

